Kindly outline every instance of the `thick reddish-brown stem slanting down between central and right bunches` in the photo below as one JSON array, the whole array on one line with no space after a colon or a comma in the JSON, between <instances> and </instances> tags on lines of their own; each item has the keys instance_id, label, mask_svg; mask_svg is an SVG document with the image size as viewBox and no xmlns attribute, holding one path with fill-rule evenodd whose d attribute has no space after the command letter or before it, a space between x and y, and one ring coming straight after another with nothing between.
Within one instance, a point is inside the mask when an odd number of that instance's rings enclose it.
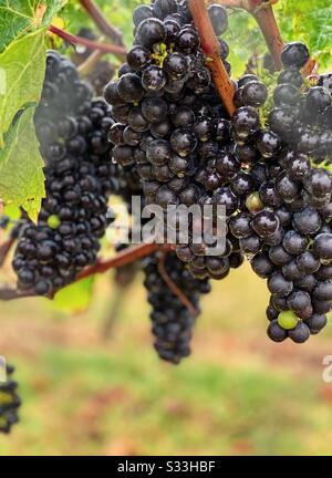
<instances>
[{"instance_id":1,"label":"thick reddish-brown stem slanting down between central and right bunches","mask_svg":"<svg viewBox=\"0 0 332 478\"><path fill-rule=\"evenodd\" d=\"M219 42L215 35L215 31L208 15L208 11L204 0L189 0L189 8L193 14L194 22L200 35L201 46L208 56L207 66L210 69L215 85L218 93L229 113L234 115L236 107L234 104L235 86L228 76L220 58Z\"/></svg>"}]
</instances>

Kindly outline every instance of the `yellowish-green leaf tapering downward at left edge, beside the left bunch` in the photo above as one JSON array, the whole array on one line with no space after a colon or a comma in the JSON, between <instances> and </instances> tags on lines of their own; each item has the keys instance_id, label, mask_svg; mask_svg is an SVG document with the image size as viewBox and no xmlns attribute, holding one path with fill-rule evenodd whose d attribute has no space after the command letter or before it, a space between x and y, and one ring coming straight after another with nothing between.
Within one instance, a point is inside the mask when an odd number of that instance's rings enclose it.
<instances>
[{"instance_id":1,"label":"yellowish-green leaf tapering downward at left edge, beside the left bunch","mask_svg":"<svg viewBox=\"0 0 332 478\"><path fill-rule=\"evenodd\" d=\"M37 221L45 190L33 114L30 107L20 115L0 149L0 197L22 207Z\"/></svg>"}]
</instances>

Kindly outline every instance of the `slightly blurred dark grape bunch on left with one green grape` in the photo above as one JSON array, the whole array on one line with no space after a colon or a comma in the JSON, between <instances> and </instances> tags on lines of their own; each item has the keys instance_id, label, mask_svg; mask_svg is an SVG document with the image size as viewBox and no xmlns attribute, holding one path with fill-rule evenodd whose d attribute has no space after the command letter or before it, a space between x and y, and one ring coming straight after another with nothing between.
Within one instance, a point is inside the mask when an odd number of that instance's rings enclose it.
<instances>
[{"instance_id":1,"label":"slightly blurred dark grape bunch on left with one green grape","mask_svg":"<svg viewBox=\"0 0 332 478\"><path fill-rule=\"evenodd\" d=\"M48 295L95 262L108 226L107 199L118 188L110 158L110 106L93 100L76 67L56 52L34 123L45 162L46 198L38 224L20 228L13 269L20 290Z\"/></svg>"}]
</instances>

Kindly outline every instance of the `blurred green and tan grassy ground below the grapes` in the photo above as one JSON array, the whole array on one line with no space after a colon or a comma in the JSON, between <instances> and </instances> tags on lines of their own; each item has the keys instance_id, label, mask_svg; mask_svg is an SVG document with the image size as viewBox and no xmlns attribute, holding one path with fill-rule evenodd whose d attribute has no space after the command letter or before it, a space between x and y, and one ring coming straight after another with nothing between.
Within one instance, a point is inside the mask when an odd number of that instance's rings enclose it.
<instances>
[{"instance_id":1,"label":"blurred green and tan grassy ground below the grapes","mask_svg":"<svg viewBox=\"0 0 332 478\"><path fill-rule=\"evenodd\" d=\"M194 353L160 363L137 283L111 340L115 292L101 279L90 311L1 303L0 353L18 367L21 423L0 455L332 455L332 331L297 346L266 337L266 285L246 267L204 301Z\"/></svg>"}]
</instances>

